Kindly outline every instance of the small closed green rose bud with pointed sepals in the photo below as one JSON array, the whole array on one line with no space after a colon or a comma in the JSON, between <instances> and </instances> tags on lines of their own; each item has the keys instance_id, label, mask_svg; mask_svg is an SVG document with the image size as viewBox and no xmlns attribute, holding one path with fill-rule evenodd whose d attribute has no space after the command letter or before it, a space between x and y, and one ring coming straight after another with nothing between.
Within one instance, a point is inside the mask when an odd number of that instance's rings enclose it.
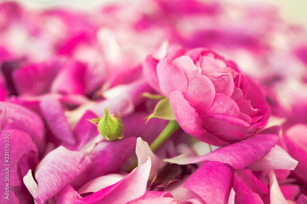
<instances>
[{"instance_id":1,"label":"small closed green rose bud with pointed sepals","mask_svg":"<svg viewBox=\"0 0 307 204\"><path fill-rule=\"evenodd\" d=\"M118 140L122 139L123 135L123 125L122 125L122 118L117 111L119 117L109 112L109 108L104 109L104 116L100 118L94 119L87 119L88 121L92 122L98 127L99 133L106 139L106 140ZM98 124L97 124L98 122Z\"/></svg>"}]
</instances>

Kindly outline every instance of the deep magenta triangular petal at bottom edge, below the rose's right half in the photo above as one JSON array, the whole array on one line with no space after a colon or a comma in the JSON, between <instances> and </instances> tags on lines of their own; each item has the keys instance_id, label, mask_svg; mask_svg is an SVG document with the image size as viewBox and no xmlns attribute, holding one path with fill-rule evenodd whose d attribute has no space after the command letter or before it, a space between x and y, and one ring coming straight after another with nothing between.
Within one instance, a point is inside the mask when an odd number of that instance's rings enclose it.
<instances>
[{"instance_id":1,"label":"deep magenta triangular petal at bottom edge, below the rose's right half","mask_svg":"<svg viewBox=\"0 0 307 204\"><path fill-rule=\"evenodd\" d=\"M243 180L239 178L239 176L235 175L235 182L234 187L235 190L235 203L236 204L246 204L246 203L253 203L253 204L263 204L262 199L260 196L244 184Z\"/></svg>"}]
</instances>

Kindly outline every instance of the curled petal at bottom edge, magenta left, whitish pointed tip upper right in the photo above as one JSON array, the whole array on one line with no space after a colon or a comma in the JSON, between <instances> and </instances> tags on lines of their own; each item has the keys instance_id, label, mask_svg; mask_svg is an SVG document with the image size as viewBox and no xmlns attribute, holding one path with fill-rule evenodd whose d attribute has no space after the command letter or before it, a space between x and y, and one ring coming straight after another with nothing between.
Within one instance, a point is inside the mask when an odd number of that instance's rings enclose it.
<instances>
[{"instance_id":1,"label":"curled petal at bottom edge, magenta left, whitish pointed tip upper right","mask_svg":"<svg viewBox=\"0 0 307 204\"><path fill-rule=\"evenodd\" d=\"M91 203L117 203L125 204L144 195L151 168L150 158L146 163L136 167L119 182L101 189L81 201Z\"/></svg>"}]
</instances>

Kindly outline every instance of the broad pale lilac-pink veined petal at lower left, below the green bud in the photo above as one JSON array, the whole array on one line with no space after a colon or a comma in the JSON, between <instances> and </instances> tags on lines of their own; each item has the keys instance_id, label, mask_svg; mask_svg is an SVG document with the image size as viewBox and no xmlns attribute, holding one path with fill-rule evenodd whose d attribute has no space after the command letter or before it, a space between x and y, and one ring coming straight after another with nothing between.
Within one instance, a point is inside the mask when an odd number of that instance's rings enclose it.
<instances>
[{"instance_id":1,"label":"broad pale lilac-pink veined petal at lower left, below the green bud","mask_svg":"<svg viewBox=\"0 0 307 204\"><path fill-rule=\"evenodd\" d=\"M37 166L38 204L46 202L64 189L87 167L90 159L83 152L60 146L45 156Z\"/></svg>"}]
</instances>

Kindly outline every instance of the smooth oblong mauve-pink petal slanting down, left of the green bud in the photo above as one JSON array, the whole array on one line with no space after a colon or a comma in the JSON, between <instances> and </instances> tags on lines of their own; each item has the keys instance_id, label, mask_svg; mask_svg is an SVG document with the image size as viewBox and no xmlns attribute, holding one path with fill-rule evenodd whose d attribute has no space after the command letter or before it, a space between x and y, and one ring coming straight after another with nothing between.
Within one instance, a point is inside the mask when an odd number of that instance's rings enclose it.
<instances>
[{"instance_id":1,"label":"smooth oblong mauve-pink petal slanting down, left of the green bud","mask_svg":"<svg viewBox=\"0 0 307 204\"><path fill-rule=\"evenodd\" d=\"M49 125L50 131L62 142L76 144L76 139L72 133L64 109L61 103L52 96L46 96L41 100L41 112Z\"/></svg>"}]
</instances>

